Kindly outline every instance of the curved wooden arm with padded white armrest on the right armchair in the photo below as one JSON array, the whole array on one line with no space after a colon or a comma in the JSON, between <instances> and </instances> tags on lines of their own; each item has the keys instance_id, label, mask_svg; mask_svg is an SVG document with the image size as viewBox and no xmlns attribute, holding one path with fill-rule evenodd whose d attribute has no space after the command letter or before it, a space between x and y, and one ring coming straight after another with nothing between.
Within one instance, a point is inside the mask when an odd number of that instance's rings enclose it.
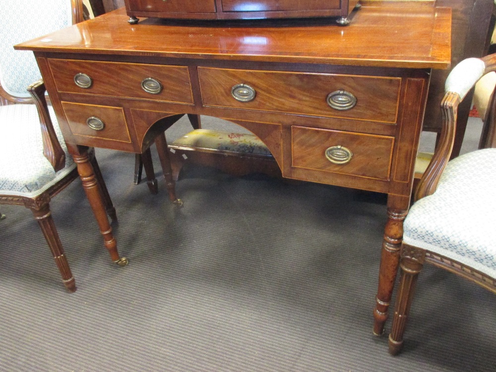
<instances>
[{"instance_id":1,"label":"curved wooden arm with padded white armrest on the right armchair","mask_svg":"<svg viewBox=\"0 0 496 372\"><path fill-rule=\"evenodd\" d=\"M453 149L458 105L483 75L495 70L496 54L483 58L467 58L449 73L444 85L446 93L441 102L441 137L431 163L420 180L415 200L433 194L439 183Z\"/></svg>"}]
</instances>

